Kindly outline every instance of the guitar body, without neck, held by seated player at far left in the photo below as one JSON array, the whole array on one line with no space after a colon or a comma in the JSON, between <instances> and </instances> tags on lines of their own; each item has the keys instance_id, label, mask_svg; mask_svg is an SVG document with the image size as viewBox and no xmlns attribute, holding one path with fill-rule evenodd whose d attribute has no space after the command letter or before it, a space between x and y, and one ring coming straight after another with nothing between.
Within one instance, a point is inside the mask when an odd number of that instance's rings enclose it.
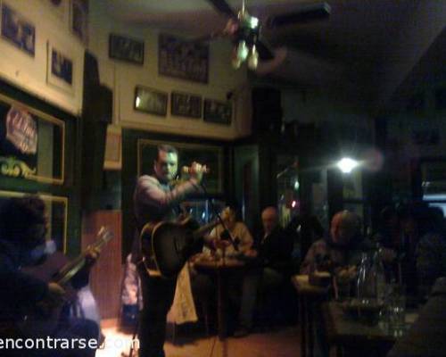
<instances>
[{"instance_id":1,"label":"guitar body, without neck, held by seated player at far left","mask_svg":"<svg viewBox=\"0 0 446 357\"><path fill-rule=\"evenodd\" d=\"M34 278L49 283L68 262L63 253L55 252L48 255L42 264L24 267L21 270ZM70 284L63 286L63 288L66 291L67 301L72 301L76 297L74 288ZM63 305L60 305L46 310L36 306L32 311L27 311L25 318L16 324L17 328L23 336L35 338L50 336L57 328L62 308Z\"/></svg>"}]
</instances>

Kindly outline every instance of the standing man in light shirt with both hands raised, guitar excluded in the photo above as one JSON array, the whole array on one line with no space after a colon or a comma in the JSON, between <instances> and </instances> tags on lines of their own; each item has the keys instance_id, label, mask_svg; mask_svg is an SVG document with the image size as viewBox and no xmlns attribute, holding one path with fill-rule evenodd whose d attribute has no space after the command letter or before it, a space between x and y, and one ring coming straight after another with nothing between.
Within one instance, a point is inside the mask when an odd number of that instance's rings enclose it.
<instances>
[{"instance_id":1,"label":"standing man in light shirt with both hands raised, guitar excluded","mask_svg":"<svg viewBox=\"0 0 446 357\"><path fill-rule=\"evenodd\" d=\"M138 234L132 255L141 278L143 310L139 322L139 357L164 356L166 317L175 295L177 277L161 277L156 272L156 262L143 261L144 250L139 244L139 233L147 223L178 219L178 204L190 195L202 193L200 183L206 167L193 162L187 168L189 179L172 187L176 178L178 151L170 145L158 146L153 162L153 176L141 176L136 183L134 209ZM145 255L145 254L144 254Z\"/></svg>"}]
</instances>

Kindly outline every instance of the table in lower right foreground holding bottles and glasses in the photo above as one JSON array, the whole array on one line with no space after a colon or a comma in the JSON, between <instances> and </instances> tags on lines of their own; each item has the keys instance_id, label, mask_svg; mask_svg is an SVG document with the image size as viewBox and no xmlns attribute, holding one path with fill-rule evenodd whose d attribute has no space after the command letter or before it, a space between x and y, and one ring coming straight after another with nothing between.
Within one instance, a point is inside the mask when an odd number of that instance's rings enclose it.
<instances>
[{"instance_id":1,"label":"table in lower right foreground holding bottles and glasses","mask_svg":"<svg viewBox=\"0 0 446 357\"><path fill-rule=\"evenodd\" d=\"M337 354L361 357L385 356L417 319L417 313L409 311L404 328L391 328L384 321L370 325L344 313L341 303L337 302L323 303L322 314L327 342L337 347Z\"/></svg>"}]
</instances>

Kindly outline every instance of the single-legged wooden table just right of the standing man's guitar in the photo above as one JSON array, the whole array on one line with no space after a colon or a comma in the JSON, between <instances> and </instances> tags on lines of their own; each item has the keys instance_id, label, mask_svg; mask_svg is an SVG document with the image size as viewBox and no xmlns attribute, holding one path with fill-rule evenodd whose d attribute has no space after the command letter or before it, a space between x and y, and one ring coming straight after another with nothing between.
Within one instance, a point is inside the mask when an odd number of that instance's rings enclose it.
<instances>
[{"instance_id":1,"label":"single-legged wooden table just right of the standing man's guitar","mask_svg":"<svg viewBox=\"0 0 446 357\"><path fill-rule=\"evenodd\" d=\"M194 261L195 270L217 278L217 316L220 340L227 336L227 278L235 271L243 271L244 265L244 262L230 258L219 261Z\"/></svg>"}]
</instances>

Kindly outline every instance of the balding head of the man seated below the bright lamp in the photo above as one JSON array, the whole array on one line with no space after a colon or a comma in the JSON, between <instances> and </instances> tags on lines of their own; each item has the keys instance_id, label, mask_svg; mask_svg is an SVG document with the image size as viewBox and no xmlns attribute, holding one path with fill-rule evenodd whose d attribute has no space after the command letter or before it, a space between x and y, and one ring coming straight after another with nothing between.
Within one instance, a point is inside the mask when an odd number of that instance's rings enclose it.
<instances>
[{"instance_id":1,"label":"balding head of the man seated below the bright lamp","mask_svg":"<svg viewBox=\"0 0 446 357\"><path fill-rule=\"evenodd\" d=\"M348 245L351 238L359 233L360 219L356 213L350 211L337 212L333 216L330 233L335 243Z\"/></svg>"}]
</instances>

